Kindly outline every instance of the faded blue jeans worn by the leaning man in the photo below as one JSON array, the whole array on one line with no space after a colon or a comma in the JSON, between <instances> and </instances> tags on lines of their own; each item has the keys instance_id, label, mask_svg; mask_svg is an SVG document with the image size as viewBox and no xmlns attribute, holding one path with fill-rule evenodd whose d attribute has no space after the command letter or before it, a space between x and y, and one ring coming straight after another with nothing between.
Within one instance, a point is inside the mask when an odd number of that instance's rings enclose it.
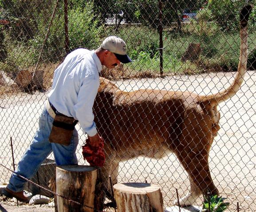
<instances>
[{"instance_id":1,"label":"faded blue jeans worn by the leaning man","mask_svg":"<svg viewBox=\"0 0 256 212\"><path fill-rule=\"evenodd\" d=\"M71 144L68 146L49 142L48 138L51 133L53 118L48 114L44 107L42 114L39 117L39 128L37 129L32 143L24 153L14 173L12 174L8 189L19 192L24 189L26 180L17 176L20 174L25 178L32 178L40 165L53 151L55 163L60 165L78 164L75 151L78 145L78 133L76 129L73 131Z\"/></svg>"}]
</instances>

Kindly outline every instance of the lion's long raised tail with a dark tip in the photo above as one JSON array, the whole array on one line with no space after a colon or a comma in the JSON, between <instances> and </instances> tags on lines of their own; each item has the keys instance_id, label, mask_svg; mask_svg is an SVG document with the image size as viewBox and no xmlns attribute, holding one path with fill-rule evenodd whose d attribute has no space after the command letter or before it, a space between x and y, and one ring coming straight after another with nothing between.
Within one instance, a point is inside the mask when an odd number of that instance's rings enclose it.
<instances>
[{"instance_id":1,"label":"lion's long raised tail with a dark tip","mask_svg":"<svg viewBox=\"0 0 256 212\"><path fill-rule=\"evenodd\" d=\"M205 102L207 105L210 104L211 107L216 106L217 104L224 102L235 95L244 81L248 57L247 24L251 11L252 4L244 6L244 8L242 8L240 11L240 57L235 80L233 81L232 85L228 87L228 89L225 89L224 91L221 91L217 94L207 95L201 99L202 102Z\"/></svg>"}]
</instances>

